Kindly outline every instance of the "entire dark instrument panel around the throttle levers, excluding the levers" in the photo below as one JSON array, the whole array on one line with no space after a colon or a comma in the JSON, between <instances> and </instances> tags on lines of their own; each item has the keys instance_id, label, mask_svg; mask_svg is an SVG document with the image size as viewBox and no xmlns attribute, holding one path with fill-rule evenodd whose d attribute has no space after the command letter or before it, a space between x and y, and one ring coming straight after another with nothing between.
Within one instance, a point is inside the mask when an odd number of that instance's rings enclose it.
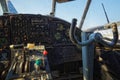
<instances>
[{"instance_id":1,"label":"entire dark instrument panel around the throttle levers, excluding the levers","mask_svg":"<svg viewBox=\"0 0 120 80\"><path fill-rule=\"evenodd\" d=\"M24 44L27 46L28 43L33 43L37 46L45 46L52 73L60 72L59 77L63 73L78 73L78 65L81 65L81 54L79 54L81 52L70 41L69 28L69 22L52 16L40 14L6 14L0 16L0 63L3 64L7 61L7 64L3 65L7 65L6 68L8 69L12 65L11 62L13 62L12 59L15 54L9 48L10 45ZM80 36L78 29L76 32ZM28 55L28 57L30 56ZM30 59L32 58L33 56ZM22 59L18 61L22 61ZM11 65L8 65L9 63ZM75 66L69 69L66 67L71 65ZM7 73L7 69L4 70ZM4 70L0 70L0 75ZM0 77L4 75L6 74Z\"/></svg>"}]
</instances>

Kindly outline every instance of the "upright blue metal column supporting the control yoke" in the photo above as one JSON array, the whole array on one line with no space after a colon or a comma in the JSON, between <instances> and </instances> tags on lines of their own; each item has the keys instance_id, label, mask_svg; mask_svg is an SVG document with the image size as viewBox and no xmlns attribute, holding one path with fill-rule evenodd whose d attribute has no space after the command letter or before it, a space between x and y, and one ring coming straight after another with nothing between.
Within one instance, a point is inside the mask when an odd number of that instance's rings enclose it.
<instances>
[{"instance_id":1,"label":"upright blue metal column supporting the control yoke","mask_svg":"<svg viewBox=\"0 0 120 80\"><path fill-rule=\"evenodd\" d=\"M90 33L82 32L82 42L88 40ZM91 37L90 37L91 38ZM82 46L83 79L93 80L94 44Z\"/></svg>"}]
</instances>

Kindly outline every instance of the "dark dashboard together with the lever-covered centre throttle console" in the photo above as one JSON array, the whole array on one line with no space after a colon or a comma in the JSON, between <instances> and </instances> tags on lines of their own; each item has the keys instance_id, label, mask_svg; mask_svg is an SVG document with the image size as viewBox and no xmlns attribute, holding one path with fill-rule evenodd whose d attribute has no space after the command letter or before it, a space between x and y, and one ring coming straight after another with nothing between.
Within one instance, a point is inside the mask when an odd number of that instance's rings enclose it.
<instances>
[{"instance_id":1,"label":"dark dashboard together with the lever-covered centre throttle console","mask_svg":"<svg viewBox=\"0 0 120 80\"><path fill-rule=\"evenodd\" d=\"M70 41L69 27L65 20L40 14L0 16L1 79L52 80L80 74L81 51Z\"/></svg>"}]
</instances>

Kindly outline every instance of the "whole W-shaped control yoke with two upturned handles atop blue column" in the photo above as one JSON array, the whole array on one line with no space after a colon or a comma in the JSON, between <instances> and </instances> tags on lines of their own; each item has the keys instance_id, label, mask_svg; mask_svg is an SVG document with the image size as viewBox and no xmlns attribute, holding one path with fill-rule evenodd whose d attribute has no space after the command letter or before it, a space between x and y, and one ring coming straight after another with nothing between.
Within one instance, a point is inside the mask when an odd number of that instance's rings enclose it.
<instances>
[{"instance_id":1,"label":"whole W-shaped control yoke with two upturned handles atop blue column","mask_svg":"<svg viewBox=\"0 0 120 80\"><path fill-rule=\"evenodd\" d=\"M77 23L77 19L73 19L72 20L72 24L70 27L70 31L69 31L69 36L71 41L76 44L76 45L80 45L80 46L86 46L92 42L97 42L97 43L101 43L104 46L108 46L108 47L113 47L117 41L118 41L118 29L117 29L117 24L116 23L112 23L112 24L108 24L107 26L103 26L104 28L112 28L112 32L113 32L113 40L111 42L107 42L105 40L103 40L103 36L100 33L92 33L89 36L89 40L80 42L77 37L75 36L75 31L76 31L76 23Z\"/></svg>"}]
</instances>

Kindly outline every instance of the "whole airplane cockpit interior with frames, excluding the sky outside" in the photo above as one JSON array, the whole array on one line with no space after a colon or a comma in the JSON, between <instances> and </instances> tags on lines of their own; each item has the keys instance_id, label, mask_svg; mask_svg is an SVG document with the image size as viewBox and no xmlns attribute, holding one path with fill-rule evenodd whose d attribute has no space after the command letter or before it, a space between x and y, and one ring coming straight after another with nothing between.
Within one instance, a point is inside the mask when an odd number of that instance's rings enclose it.
<instances>
[{"instance_id":1,"label":"whole airplane cockpit interior with frames, excluding the sky outside","mask_svg":"<svg viewBox=\"0 0 120 80\"><path fill-rule=\"evenodd\" d=\"M76 19L70 23L55 17L56 1L73 0L53 0L50 15L21 14L10 0L0 1L3 10L0 16L0 80L119 80L117 26L120 22L82 31L76 27ZM81 22L85 20L89 1ZM105 42L100 33L94 32L103 28L113 29L112 43Z\"/></svg>"}]
</instances>

